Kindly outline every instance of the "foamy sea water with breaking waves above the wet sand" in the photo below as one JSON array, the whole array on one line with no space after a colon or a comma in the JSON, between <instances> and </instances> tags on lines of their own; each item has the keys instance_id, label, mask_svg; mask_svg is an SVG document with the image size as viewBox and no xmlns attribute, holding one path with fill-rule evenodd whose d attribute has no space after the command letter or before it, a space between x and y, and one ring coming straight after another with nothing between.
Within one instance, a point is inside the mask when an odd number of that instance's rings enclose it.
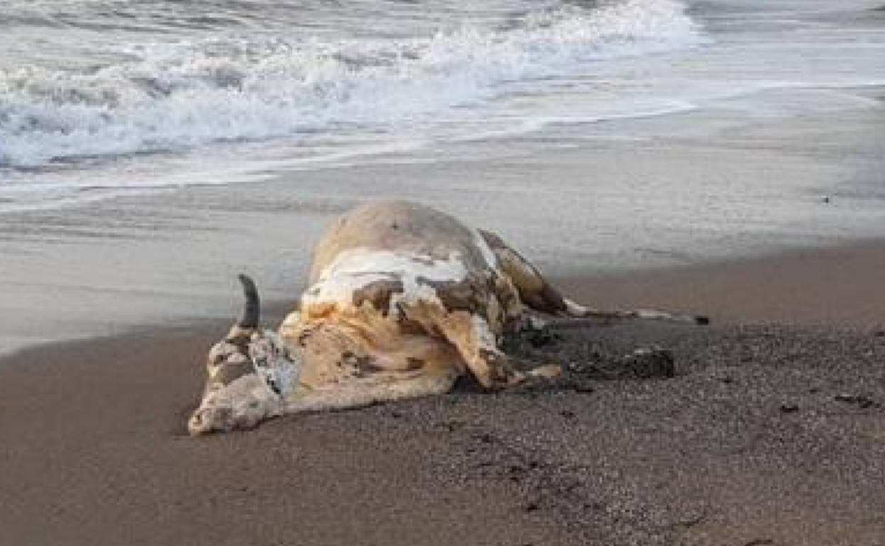
<instances>
[{"instance_id":1,"label":"foamy sea water with breaking waves above the wet sand","mask_svg":"<svg viewBox=\"0 0 885 546\"><path fill-rule=\"evenodd\" d=\"M0 211L688 112L760 90L881 85L875 7L10 0L0 4ZM805 99L744 107L827 107L826 96Z\"/></svg>"}]
</instances>

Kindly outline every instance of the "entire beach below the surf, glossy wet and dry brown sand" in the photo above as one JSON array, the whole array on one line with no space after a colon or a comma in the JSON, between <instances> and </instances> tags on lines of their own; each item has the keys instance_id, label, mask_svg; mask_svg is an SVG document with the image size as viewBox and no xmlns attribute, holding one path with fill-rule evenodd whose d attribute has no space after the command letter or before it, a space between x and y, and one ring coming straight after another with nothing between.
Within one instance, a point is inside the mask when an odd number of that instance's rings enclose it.
<instances>
[{"instance_id":1,"label":"entire beach below the surf, glossy wet and dry brown sand","mask_svg":"<svg viewBox=\"0 0 885 546\"><path fill-rule=\"evenodd\" d=\"M858 207L879 191L869 169L881 161L881 109L840 112L841 130L825 131L834 116L781 125L789 145L767 150L728 133L705 143L657 137L639 148L605 142L429 170L389 162L4 217L6 249L19 252L2 264L11 342L0 360L0 543L881 544L885 246L873 237L881 212ZM794 140L800 129L814 138ZM821 142L848 155L794 156ZM575 201L576 186L550 194L531 222L514 214L525 204L507 181L586 180L572 177L591 165L595 177L624 181L715 175L740 186L777 165L808 188L835 173L870 184L846 185L830 204L810 189L791 209L807 217L792 217L792 228L692 230L687 246L666 217L631 232L635 219L604 216L598 203L617 193ZM480 176L490 181L482 193L451 187ZM327 218L397 184L396 195L507 234L581 301L704 313L713 326L568 329L539 347L522 343L577 365L580 388L461 388L185 435L204 351L240 304L235 273L258 278L275 302L273 324L301 289ZM581 217L592 202L608 224ZM589 228L564 240L567 222L544 221L558 208ZM678 213L719 221L700 208ZM858 229L844 221L851 213ZM627 246L609 244L623 238ZM752 250L758 258L745 256ZM72 337L89 339L59 341ZM15 350L40 340L51 343ZM673 351L676 377L581 375L581 365L647 346Z\"/></svg>"}]
</instances>

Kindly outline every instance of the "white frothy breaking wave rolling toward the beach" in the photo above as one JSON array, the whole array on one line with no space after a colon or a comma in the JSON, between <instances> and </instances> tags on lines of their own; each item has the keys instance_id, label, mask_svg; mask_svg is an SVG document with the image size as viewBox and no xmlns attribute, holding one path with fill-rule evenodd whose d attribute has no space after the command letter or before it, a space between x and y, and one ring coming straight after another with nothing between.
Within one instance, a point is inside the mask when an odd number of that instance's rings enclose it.
<instances>
[{"instance_id":1,"label":"white frothy breaking wave rolling toward the beach","mask_svg":"<svg viewBox=\"0 0 885 546\"><path fill-rule=\"evenodd\" d=\"M118 60L99 68L0 73L0 165L395 127L595 59L698 40L683 4L627 0L409 39L264 35L121 46Z\"/></svg>"}]
</instances>

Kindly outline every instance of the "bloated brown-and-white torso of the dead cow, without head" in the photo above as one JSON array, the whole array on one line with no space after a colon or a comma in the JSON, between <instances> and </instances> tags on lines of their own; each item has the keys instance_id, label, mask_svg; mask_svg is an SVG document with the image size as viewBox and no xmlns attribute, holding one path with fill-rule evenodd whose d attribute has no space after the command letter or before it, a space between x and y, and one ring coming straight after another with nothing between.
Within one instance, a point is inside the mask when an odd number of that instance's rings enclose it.
<instances>
[{"instance_id":1,"label":"bloated brown-and-white torso of the dead cow, without head","mask_svg":"<svg viewBox=\"0 0 885 546\"><path fill-rule=\"evenodd\" d=\"M473 338L501 335L518 307L479 232L419 204L373 203L327 229L281 337L300 354L303 392L453 377L466 367L453 338L494 345Z\"/></svg>"}]
</instances>

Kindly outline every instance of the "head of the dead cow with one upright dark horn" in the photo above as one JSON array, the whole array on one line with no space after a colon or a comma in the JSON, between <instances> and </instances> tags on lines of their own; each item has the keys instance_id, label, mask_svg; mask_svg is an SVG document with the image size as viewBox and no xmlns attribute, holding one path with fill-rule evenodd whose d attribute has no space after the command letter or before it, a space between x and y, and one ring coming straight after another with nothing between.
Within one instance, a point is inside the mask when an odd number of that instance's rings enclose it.
<instances>
[{"instance_id":1,"label":"head of the dead cow with one upright dark horn","mask_svg":"<svg viewBox=\"0 0 885 546\"><path fill-rule=\"evenodd\" d=\"M280 415L299 366L279 337L260 327L255 283L240 275L246 296L242 317L206 358L203 400L188 422L190 434L252 428Z\"/></svg>"}]
</instances>

